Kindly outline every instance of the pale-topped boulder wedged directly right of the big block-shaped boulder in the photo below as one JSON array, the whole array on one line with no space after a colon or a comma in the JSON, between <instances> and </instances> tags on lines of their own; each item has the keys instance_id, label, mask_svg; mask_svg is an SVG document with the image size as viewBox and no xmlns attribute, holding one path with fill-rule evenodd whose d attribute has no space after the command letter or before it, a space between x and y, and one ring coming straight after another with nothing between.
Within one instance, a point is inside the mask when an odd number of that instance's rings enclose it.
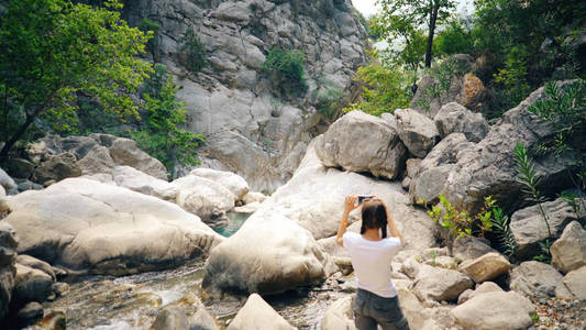
<instances>
[{"instance_id":1,"label":"pale-topped boulder wedged directly right of the big block-shaped boulder","mask_svg":"<svg viewBox=\"0 0 586 330\"><path fill-rule=\"evenodd\" d=\"M423 158L440 140L435 123L427 116L412 109L397 109L395 117L399 138L416 157Z\"/></svg>"}]
</instances>

